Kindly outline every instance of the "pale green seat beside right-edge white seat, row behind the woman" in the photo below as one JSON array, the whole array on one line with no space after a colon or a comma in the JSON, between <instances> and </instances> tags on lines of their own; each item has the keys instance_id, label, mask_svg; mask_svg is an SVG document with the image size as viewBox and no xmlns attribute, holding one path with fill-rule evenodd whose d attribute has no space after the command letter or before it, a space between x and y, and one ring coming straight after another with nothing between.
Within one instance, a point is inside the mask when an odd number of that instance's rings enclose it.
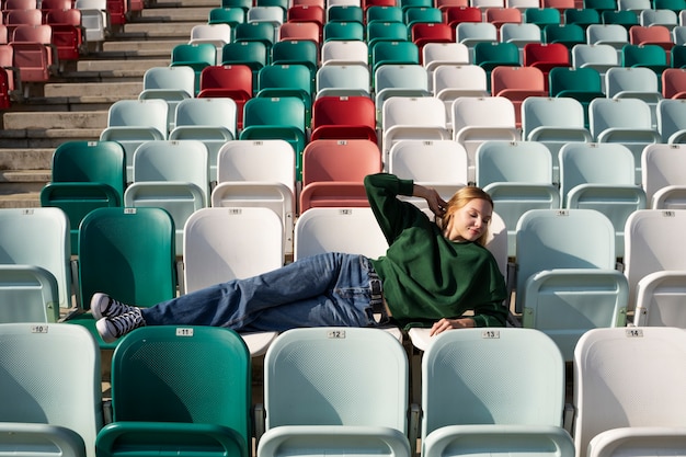
<instances>
[{"instance_id":1,"label":"pale green seat beside right-edge white seat, row behind the woman","mask_svg":"<svg viewBox=\"0 0 686 457\"><path fill-rule=\"evenodd\" d=\"M617 258L624 256L627 218L645 209L645 191L634 184L631 151L611 142L569 144L560 150L560 201L564 208L596 209L615 228Z\"/></svg>"}]
</instances>

